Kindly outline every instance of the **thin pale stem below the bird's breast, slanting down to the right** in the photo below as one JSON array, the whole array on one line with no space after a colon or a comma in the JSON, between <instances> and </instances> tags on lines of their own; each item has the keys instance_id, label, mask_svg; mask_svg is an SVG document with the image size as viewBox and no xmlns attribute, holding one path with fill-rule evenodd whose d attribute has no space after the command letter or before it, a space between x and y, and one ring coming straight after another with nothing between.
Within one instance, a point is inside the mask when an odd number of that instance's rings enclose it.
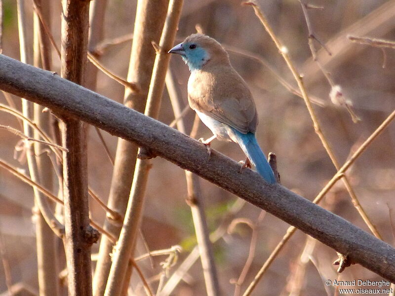
<instances>
[{"instance_id":1,"label":"thin pale stem below the bird's breast, slanting down to the right","mask_svg":"<svg viewBox=\"0 0 395 296\"><path fill-rule=\"evenodd\" d=\"M186 133L184 120L181 117L180 99L177 95L174 78L170 71L166 74L166 87L169 93L171 106L173 108L174 117L180 118L177 121L177 129ZM204 281L206 284L206 292L208 296L219 295L218 275L214 262L214 254L210 235L207 227L206 215L204 213L203 197L199 184L199 177L189 171L185 171L187 179L188 197L187 203L191 207L192 218L195 225L197 245L199 248L201 265L203 267Z\"/></svg>"}]
</instances>

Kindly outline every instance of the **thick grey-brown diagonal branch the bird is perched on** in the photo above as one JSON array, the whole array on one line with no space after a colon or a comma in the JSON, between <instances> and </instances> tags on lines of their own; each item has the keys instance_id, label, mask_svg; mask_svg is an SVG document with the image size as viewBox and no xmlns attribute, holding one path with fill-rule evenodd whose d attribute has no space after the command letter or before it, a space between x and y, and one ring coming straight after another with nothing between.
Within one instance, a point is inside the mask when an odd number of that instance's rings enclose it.
<instances>
[{"instance_id":1,"label":"thick grey-brown diagonal branch the bird is perched on","mask_svg":"<svg viewBox=\"0 0 395 296\"><path fill-rule=\"evenodd\" d=\"M183 169L234 193L279 219L296 226L350 259L395 282L395 249L343 218L275 184L143 114L66 81L50 72L0 55L0 89L54 111L62 111L110 134L149 147Z\"/></svg>"}]
</instances>

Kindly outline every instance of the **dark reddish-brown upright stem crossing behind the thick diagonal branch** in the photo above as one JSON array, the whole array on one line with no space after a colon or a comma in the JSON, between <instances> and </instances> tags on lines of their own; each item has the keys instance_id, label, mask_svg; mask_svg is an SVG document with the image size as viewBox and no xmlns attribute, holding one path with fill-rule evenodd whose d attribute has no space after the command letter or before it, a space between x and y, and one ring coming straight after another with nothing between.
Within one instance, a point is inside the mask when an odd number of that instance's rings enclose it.
<instances>
[{"instance_id":1,"label":"dark reddish-brown upright stem crossing behind the thick diagonal branch","mask_svg":"<svg viewBox=\"0 0 395 296\"><path fill-rule=\"evenodd\" d=\"M63 0L61 76L84 83L89 27L89 0ZM61 114L65 249L71 296L92 295L90 247L98 239L89 225L86 135L83 123Z\"/></svg>"}]
</instances>

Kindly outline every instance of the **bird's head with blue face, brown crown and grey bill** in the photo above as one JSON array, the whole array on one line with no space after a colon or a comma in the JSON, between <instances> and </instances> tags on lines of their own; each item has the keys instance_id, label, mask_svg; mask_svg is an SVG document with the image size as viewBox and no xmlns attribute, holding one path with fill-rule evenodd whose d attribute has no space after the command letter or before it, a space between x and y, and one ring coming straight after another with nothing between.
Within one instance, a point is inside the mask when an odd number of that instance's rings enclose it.
<instances>
[{"instance_id":1,"label":"bird's head with blue face, brown crown and grey bill","mask_svg":"<svg viewBox=\"0 0 395 296\"><path fill-rule=\"evenodd\" d=\"M193 34L169 50L181 55L189 70L202 69L205 65L229 64L228 53L215 39L203 34Z\"/></svg>"}]
</instances>

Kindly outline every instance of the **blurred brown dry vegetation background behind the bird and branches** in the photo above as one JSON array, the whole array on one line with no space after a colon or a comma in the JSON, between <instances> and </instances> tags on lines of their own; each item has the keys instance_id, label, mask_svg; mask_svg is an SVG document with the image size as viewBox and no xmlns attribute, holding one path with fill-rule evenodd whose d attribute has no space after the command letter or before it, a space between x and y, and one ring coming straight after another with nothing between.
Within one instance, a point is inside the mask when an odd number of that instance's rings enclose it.
<instances>
[{"instance_id":1,"label":"blurred brown dry vegetation background behind the bird and branches","mask_svg":"<svg viewBox=\"0 0 395 296\"><path fill-rule=\"evenodd\" d=\"M305 16L298 0L260 0L261 5L277 37L286 45L297 69L304 76L308 93L321 103L314 105L322 132L329 142L340 164L344 163L375 128L394 110L395 58L393 49L385 49L351 42L348 34L358 37L377 37L395 40L394 0L312 0L310 3L323 9L309 9L314 34L326 44L331 56L315 41L317 57L322 66L330 72L335 84L339 84L343 94L352 102L354 111L361 119L354 123L349 112L332 104L329 98L331 86L312 59L308 44L308 30ZM60 1L51 3L51 25L55 41L60 45ZM28 44L33 40L33 8L31 1L25 1L28 26ZM383 8L385 7L385 8ZM108 0L105 16L105 39L131 34L136 12L136 1ZM282 185L313 200L320 189L336 173L336 170L314 132L309 113L303 99L289 92L269 68L296 88L288 68L283 62L273 41L264 31L254 15L253 9L241 6L239 0L198 0L185 1L181 14L177 40L195 33L199 24L210 37L235 51L230 52L233 66L247 81L254 95L260 124L258 141L266 153L277 155L278 171ZM178 43L178 42L177 42ZM3 0L3 54L19 59L16 1ZM100 59L112 72L126 77L131 41L110 45L105 48ZM154 50L150 48L149 50ZM247 54L245 54L247 53ZM249 55L249 56L248 56ZM257 59L264 61L262 65ZM52 51L53 71L59 73L60 60ZM269 68L267 67L269 65ZM0 65L1 67L1 65ZM187 80L189 72L181 58L172 57L170 69L176 80L181 107L187 103ZM89 73L86 74L89 76ZM122 102L124 87L99 72L97 92L115 101ZM13 98L18 109L20 100ZM0 103L7 104L4 96ZM194 122L192 111L185 115L187 132ZM174 119L167 91L163 93L159 120L170 123ZM1 113L0 124L20 129L18 122L9 114ZM115 155L117 139L103 133L104 139ZM200 124L197 138L211 136L209 130ZM112 163L98 138L94 128L88 128L88 174L89 185L106 201L109 195ZM26 160L21 151L15 151L20 141L18 136L0 129L0 157L14 167L27 173ZM212 148L233 159L243 159L241 149L235 144L215 142ZM395 126L386 131L362 154L347 176L356 192L367 216L377 227L383 240L394 244L391 226L391 211L395 207ZM15 157L16 156L16 157ZM255 255L246 274L241 291L244 291L256 272L281 240L289 225L277 218L261 213L261 210L237 201L237 197L219 189L215 185L200 180L207 222L211 231L222 225L240 221L254 224L253 242ZM55 186L54 191L57 188ZM140 238L136 256L150 250L167 249L180 245L179 254L169 274L177 270L181 262L196 245L196 237L190 207L186 204L187 186L185 174L179 167L161 158L153 160L150 171L141 231L146 245ZM231 208L238 207L229 219ZM11 284L23 283L38 293L37 255L34 217L33 190L9 172L0 169L0 239L3 264L0 265L0 295L7 295L6 280ZM326 195L323 207L347 219L362 229L369 228L360 218L342 182ZM102 221L105 212L91 200L91 216L96 222ZM259 218L260 217L260 218ZM393 217L395 219L395 217ZM257 221L259 220L259 223ZM251 228L244 223L237 224L232 233L226 232L214 244L215 263L218 269L223 295L232 295L232 283L240 275L250 254ZM310 242L309 244L307 244ZM308 246L308 248L305 248ZM92 247L98 252L99 244ZM62 244L58 243L59 250ZM305 251L303 260L301 254ZM310 258L310 259L309 259ZM162 271L159 262L166 257L155 257L139 261L139 266L151 282L154 291L157 277ZM325 295L335 293L333 287L325 292L323 279L336 279L336 259L334 250L309 240L302 232L297 232L270 266L253 295ZM65 267L60 258L60 269ZM9 269L5 276L4 267ZM367 269L353 265L341 274L342 280L381 280ZM133 273L130 283L135 294L144 295L137 273ZM179 283L172 295L206 295L200 261ZM65 291L65 288L63 288ZM27 294L20 294L27 295Z\"/></svg>"}]
</instances>

